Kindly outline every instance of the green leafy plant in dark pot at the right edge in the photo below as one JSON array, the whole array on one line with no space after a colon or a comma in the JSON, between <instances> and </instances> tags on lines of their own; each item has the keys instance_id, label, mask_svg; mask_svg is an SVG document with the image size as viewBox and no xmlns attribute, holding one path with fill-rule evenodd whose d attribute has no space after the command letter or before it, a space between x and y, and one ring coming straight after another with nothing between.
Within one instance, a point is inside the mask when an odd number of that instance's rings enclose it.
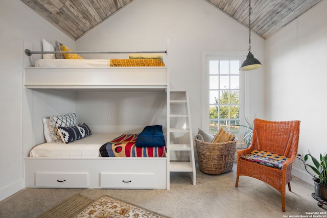
<instances>
[{"instance_id":1,"label":"green leafy plant in dark pot at the right edge","mask_svg":"<svg viewBox=\"0 0 327 218\"><path fill-rule=\"evenodd\" d=\"M307 163L309 157L311 158L314 165L310 165ZM315 184L315 194L323 199L327 200L327 152L323 155L320 154L320 161L313 157L310 152L306 154L304 160L298 158L305 164L306 171L313 177L313 181ZM308 171L307 166L309 166L315 174L312 174Z\"/></svg>"}]
</instances>

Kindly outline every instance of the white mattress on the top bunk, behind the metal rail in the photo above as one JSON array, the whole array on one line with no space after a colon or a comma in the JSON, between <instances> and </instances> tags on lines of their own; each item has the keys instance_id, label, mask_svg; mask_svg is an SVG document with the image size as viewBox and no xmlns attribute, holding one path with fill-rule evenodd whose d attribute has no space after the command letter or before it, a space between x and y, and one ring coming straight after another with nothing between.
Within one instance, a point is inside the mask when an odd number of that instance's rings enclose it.
<instances>
[{"instance_id":1,"label":"white mattress on the top bunk, behind the metal rail","mask_svg":"<svg viewBox=\"0 0 327 218\"><path fill-rule=\"evenodd\" d=\"M39 59L35 67L110 67L106 59Z\"/></svg>"}]
</instances>

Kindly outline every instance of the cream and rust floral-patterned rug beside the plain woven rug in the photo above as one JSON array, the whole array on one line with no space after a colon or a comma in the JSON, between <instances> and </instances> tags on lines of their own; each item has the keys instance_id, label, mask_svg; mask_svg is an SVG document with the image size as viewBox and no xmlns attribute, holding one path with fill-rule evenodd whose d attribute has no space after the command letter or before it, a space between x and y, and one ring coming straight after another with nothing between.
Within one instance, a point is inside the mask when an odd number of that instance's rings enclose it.
<instances>
[{"instance_id":1,"label":"cream and rust floral-patterned rug beside the plain woven rug","mask_svg":"<svg viewBox=\"0 0 327 218\"><path fill-rule=\"evenodd\" d=\"M116 218L116 217L148 217L148 218L167 218L150 210L113 199L109 196L102 196L80 213L75 218Z\"/></svg>"}]
</instances>

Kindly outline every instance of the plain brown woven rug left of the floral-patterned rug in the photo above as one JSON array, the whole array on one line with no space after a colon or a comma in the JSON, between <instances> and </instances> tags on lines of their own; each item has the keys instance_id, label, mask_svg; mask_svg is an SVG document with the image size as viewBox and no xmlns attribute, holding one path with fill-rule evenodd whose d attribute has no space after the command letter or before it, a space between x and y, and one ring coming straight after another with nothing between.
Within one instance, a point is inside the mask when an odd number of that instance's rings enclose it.
<instances>
[{"instance_id":1,"label":"plain brown woven rug left of the floral-patterned rug","mask_svg":"<svg viewBox=\"0 0 327 218\"><path fill-rule=\"evenodd\" d=\"M74 195L49 211L46 211L38 218L69 218L77 214L94 200L82 195Z\"/></svg>"}]
</instances>

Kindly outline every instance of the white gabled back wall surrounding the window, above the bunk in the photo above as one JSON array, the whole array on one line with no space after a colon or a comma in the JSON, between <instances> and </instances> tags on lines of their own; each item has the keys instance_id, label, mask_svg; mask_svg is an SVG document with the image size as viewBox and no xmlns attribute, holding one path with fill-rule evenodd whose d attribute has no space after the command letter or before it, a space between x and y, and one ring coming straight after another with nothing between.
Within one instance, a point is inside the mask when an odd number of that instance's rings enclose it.
<instances>
[{"instance_id":1,"label":"white gabled back wall surrounding the window, above the bunk","mask_svg":"<svg viewBox=\"0 0 327 218\"><path fill-rule=\"evenodd\" d=\"M202 52L244 51L246 55L247 28L204 0L135 0L78 39L76 47L80 51L158 51L166 50L167 39L169 60L165 62L170 67L171 90L189 91L195 134L201 128ZM251 39L252 53L265 64L264 40L255 34ZM264 113L263 72L264 68L247 72L252 116L256 109L258 116Z\"/></svg>"}]
</instances>

